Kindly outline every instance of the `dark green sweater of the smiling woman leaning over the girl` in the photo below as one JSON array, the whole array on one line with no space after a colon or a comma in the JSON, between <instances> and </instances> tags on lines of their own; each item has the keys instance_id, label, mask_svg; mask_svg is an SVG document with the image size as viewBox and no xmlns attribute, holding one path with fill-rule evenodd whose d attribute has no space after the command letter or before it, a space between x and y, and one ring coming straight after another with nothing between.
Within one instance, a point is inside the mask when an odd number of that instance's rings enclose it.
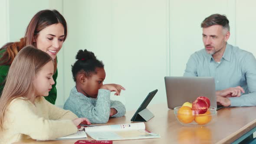
<instances>
[{"instance_id":1,"label":"dark green sweater of the smiling woman leaning over the girl","mask_svg":"<svg viewBox=\"0 0 256 144\"><path fill-rule=\"evenodd\" d=\"M0 58L2 57L1 54L3 52L5 52L5 49L0 51ZM2 95L5 79L6 79L9 68L10 68L10 65L0 65L0 95ZM57 76L58 76L58 70L56 70L56 73L53 75L53 80L55 84L52 85L53 88L49 92L49 95L45 97L45 99L50 103L52 103L53 105L55 104L55 101L57 98L57 90L56 90Z\"/></svg>"}]
</instances>

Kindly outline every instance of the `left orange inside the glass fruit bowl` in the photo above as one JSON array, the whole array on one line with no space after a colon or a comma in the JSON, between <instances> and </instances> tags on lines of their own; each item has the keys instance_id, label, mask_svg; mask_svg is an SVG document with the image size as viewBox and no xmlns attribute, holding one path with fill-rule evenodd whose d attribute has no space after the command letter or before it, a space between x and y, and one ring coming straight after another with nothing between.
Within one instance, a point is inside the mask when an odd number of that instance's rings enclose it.
<instances>
[{"instance_id":1,"label":"left orange inside the glass fruit bowl","mask_svg":"<svg viewBox=\"0 0 256 144\"><path fill-rule=\"evenodd\" d=\"M192 108L188 106L182 106L177 112L177 118L184 124L188 124L194 121L195 116L192 115Z\"/></svg>"}]
</instances>

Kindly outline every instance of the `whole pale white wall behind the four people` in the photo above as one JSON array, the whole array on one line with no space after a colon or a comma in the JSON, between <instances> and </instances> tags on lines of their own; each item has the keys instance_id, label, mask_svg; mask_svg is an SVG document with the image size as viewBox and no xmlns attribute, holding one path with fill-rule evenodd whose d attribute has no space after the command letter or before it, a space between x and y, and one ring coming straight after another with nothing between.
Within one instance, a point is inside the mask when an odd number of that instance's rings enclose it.
<instances>
[{"instance_id":1,"label":"whole pale white wall behind the four people","mask_svg":"<svg viewBox=\"0 0 256 144\"><path fill-rule=\"evenodd\" d=\"M112 98L132 110L156 88L152 103L166 101L164 76L183 75L189 56L203 49L200 23L210 14L226 14L228 43L256 54L255 5L255 0L3 0L0 45L20 39L39 10L57 9L68 23L68 38L58 54L56 105L64 104L75 85L76 52L88 49L105 64L104 83L127 89Z\"/></svg>"}]
</instances>

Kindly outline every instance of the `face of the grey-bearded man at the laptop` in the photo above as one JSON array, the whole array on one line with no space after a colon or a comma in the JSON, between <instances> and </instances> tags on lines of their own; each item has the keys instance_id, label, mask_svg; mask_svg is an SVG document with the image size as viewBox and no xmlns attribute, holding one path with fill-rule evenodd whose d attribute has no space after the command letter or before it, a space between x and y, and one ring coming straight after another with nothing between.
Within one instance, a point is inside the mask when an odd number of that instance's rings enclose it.
<instances>
[{"instance_id":1,"label":"face of the grey-bearded man at the laptop","mask_svg":"<svg viewBox=\"0 0 256 144\"><path fill-rule=\"evenodd\" d=\"M230 32L223 29L223 26L213 25L203 28L203 45L208 54L214 55L226 46Z\"/></svg>"}]
</instances>

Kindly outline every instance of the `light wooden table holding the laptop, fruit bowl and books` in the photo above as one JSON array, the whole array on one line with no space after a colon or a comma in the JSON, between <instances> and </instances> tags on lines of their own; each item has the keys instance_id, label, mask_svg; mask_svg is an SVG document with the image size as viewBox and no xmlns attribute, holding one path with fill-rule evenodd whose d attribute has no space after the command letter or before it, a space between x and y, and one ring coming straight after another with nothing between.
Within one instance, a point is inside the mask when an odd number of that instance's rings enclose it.
<instances>
[{"instance_id":1,"label":"light wooden table holding the laptop, fruit bowl and books","mask_svg":"<svg viewBox=\"0 0 256 144\"><path fill-rule=\"evenodd\" d=\"M145 122L146 129L160 134L161 138L114 141L114 144L230 144L256 127L256 107L222 108L217 111L217 120L207 127L190 128L181 125L175 118L174 110L167 104L152 105L148 108L155 117ZM125 117L110 118L107 124L131 123L135 111ZM89 137L87 140L91 140ZM77 140L34 141L29 139L15 144L74 144Z\"/></svg>"}]
</instances>

